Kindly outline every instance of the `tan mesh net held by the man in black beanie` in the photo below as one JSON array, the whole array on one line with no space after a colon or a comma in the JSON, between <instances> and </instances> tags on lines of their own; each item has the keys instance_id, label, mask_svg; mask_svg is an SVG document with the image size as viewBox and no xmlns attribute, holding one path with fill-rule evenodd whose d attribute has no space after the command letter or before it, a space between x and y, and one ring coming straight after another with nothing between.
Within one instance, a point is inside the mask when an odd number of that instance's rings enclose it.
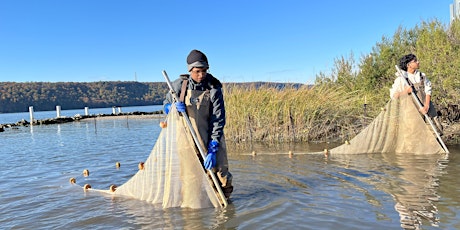
<instances>
[{"instance_id":1,"label":"tan mesh net held by the man in black beanie","mask_svg":"<svg viewBox=\"0 0 460 230\"><path fill-rule=\"evenodd\" d=\"M220 203L185 122L175 110L167 118L150 156L114 194L159 204L163 208L219 207Z\"/></svg>"}]
</instances>

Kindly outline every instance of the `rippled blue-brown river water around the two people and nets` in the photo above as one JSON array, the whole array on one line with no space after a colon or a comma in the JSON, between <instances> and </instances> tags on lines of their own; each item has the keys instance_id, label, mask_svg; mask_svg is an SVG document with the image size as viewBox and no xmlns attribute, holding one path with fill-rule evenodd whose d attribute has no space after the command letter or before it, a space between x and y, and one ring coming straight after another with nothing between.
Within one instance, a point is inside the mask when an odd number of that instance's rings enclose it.
<instances>
[{"instance_id":1,"label":"rippled blue-brown river water around the two people and nets","mask_svg":"<svg viewBox=\"0 0 460 230\"><path fill-rule=\"evenodd\" d=\"M159 109L131 107L123 112ZM94 111L111 113L111 108ZM63 110L61 115L75 113L83 110ZM36 119L55 115L35 113ZM28 113L0 114L0 123L28 118ZM460 229L459 146L448 146L449 156L325 158L314 152L331 147L327 144L244 149L229 144L235 190L226 209L161 209L84 192L69 183L75 177L80 185L107 189L114 181L128 180L150 154L160 121L91 118L1 132L0 228ZM84 169L90 177L81 176Z\"/></svg>"}]
</instances>

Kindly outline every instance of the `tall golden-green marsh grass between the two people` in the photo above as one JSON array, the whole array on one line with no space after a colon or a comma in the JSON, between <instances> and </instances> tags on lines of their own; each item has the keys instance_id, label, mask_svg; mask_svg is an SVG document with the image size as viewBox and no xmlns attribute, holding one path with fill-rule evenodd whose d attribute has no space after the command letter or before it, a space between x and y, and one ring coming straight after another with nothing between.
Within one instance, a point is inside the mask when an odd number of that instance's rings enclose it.
<instances>
[{"instance_id":1,"label":"tall golden-green marsh grass between the two people","mask_svg":"<svg viewBox=\"0 0 460 230\"><path fill-rule=\"evenodd\" d=\"M225 132L233 142L342 141L359 133L375 113L364 116L360 92L326 85L233 86L224 88L224 96Z\"/></svg>"}]
</instances>

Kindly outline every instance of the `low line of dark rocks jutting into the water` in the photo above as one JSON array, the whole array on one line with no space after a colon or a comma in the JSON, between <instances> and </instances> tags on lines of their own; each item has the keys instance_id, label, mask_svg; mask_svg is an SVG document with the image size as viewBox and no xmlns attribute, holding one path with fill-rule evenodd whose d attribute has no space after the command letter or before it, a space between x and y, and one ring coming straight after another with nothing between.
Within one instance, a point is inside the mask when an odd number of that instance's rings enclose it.
<instances>
[{"instance_id":1,"label":"low line of dark rocks jutting into the water","mask_svg":"<svg viewBox=\"0 0 460 230\"><path fill-rule=\"evenodd\" d=\"M149 116L150 115L150 116ZM93 114L93 115L80 115L77 114L73 117L55 117L55 118L47 118L42 120L34 120L33 122L29 122L25 119L22 119L16 123L9 123L9 124L0 124L0 132L4 132L7 129L16 129L19 127L27 127L30 125L53 125L53 124L62 124L74 121L80 121L83 119L88 118L123 118L126 116L164 116L163 111L154 111L154 112L129 112L129 113L111 113L111 114Z\"/></svg>"}]
</instances>

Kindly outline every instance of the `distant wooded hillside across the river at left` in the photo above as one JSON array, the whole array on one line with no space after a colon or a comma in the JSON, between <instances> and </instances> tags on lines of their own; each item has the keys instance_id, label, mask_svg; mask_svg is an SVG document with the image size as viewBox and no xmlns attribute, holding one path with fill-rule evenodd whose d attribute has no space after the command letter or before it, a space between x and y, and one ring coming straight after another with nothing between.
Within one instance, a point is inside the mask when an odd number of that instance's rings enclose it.
<instances>
[{"instance_id":1,"label":"distant wooded hillside across the river at left","mask_svg":"<svg viewBox=\"0 0 460 230\"><path fill-rule=\"evenodd\" d=\"M162 104L164 82L0 82L0 113Z\"/></svg>"}]
</instances>

